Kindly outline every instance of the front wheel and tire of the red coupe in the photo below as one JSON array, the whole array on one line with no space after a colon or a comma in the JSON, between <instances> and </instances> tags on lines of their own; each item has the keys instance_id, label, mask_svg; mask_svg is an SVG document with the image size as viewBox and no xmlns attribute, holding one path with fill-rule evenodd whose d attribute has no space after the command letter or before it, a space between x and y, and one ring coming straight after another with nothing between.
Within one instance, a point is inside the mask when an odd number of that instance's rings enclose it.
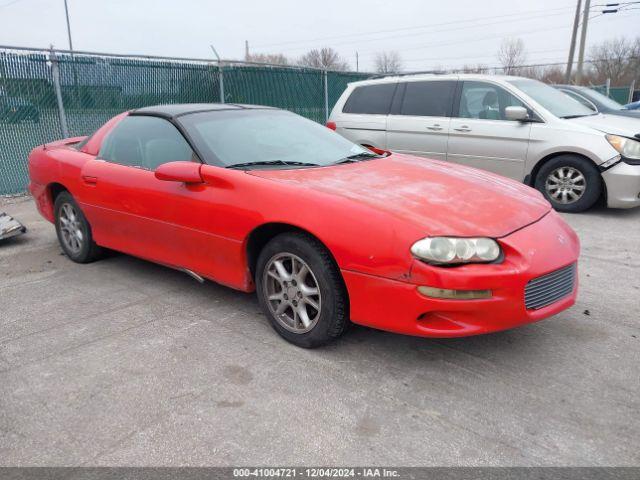
<instances>
[{"instance_id":1,"label":"front wheel and tire of the red coupe","mask_svg":"<svg viewBox=\"0 0 640 480\"><path fill-rule=\"evenodd\" d=\"M349 301L344 281L329 251L312 236L292 232L274 237L260 252L255 276L260 306L285 340L315 348L347 328ZM314 289L317 294L312 293ZM284 309L280 314L279 307Z\"/></svg>"}]
</instances>

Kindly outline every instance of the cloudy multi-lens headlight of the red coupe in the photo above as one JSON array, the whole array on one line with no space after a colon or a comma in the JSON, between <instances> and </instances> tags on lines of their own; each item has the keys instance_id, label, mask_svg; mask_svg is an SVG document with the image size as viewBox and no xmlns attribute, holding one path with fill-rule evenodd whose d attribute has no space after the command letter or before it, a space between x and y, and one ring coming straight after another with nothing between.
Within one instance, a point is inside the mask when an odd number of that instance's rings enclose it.
<instances>
[{"instance_id":1,"label":"cloudy multi-lens headlight of the red coupe","mask_svg":"<svg viewBox=\"0 0 640 480\"><path fill-rule=\"evenodd\" d=\"M411 253L435 265L486 263L500 257L500 246L491 238L432 237L414 243Z\"/></svg>"}]
</instances>

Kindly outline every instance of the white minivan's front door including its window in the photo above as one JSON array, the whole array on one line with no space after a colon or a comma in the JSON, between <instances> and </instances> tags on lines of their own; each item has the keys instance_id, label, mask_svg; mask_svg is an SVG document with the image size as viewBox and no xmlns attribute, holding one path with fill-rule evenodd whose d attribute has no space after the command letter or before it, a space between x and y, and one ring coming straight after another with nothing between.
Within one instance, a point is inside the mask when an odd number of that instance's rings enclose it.
<instances>
[{"instance_id":1,"label":"white minivan's front door including its window","mask_svg":"<svg viewBox=\"0 0 640 480\"><path fill-rule=\"evenodd\" d=\"M459 90L447 160L522 181L531 123L507 120L505 108L527 106L492 82L465 80Z\"/></svg>"}]
</instances>

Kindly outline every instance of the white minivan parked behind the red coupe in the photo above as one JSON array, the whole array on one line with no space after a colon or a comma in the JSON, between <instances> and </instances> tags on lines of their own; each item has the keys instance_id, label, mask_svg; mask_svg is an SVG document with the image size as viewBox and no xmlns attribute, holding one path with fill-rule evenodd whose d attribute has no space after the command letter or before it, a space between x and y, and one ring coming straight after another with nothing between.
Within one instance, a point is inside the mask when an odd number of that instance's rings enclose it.
<instances>
[{"instance_id":1,"label":"white minivan parked behind the red coupe","mask_svg":"<svg viewBox=\"0 0 640 480\"><path fill-rule=\"evenodd\" d=\"M523 181L560 211L640 205L640 120L596 114L536 80L407 75L349 84L329 128L361 145Z\"/></svg>"}]
</instances>

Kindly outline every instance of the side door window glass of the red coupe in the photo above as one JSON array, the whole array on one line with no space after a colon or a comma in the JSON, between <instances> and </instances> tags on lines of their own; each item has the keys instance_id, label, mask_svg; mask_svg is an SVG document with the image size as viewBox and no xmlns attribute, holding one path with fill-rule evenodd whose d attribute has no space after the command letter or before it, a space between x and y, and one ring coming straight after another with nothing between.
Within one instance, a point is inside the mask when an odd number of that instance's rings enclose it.
<instances>
[{"instance_id":1,"label":"side door window glass of the red coupe","mask_svg":"<svg viewBox=\"0 0 640 480\"><path fill-rule=\"evenodd\" d=\"M99 157L147 170L167 162L195 159L187 141L169 121L142 115L123 118L102 142Z\"/></svg>"}]
</instances>

